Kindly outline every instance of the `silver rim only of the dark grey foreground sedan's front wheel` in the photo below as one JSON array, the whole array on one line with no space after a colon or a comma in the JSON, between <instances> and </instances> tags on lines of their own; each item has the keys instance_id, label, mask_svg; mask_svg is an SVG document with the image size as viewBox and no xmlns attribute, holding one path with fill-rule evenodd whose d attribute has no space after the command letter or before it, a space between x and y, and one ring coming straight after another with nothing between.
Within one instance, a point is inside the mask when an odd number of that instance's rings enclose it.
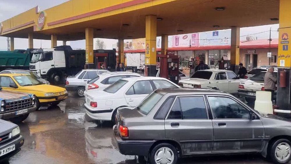
<instances>
[{"instance_id":1,"label":"silver rim only of the dark grey foreground sedan's front wheel","mask_svg":"<svg viewBox=\"0 0 291 164\"><path fill-rule=\"evenodd\" d=\"M290 145L286 142L281 142L275 149L275 157L278 161L286 161L289 159L291 154Z\"/></svg>"}]
</instances>

